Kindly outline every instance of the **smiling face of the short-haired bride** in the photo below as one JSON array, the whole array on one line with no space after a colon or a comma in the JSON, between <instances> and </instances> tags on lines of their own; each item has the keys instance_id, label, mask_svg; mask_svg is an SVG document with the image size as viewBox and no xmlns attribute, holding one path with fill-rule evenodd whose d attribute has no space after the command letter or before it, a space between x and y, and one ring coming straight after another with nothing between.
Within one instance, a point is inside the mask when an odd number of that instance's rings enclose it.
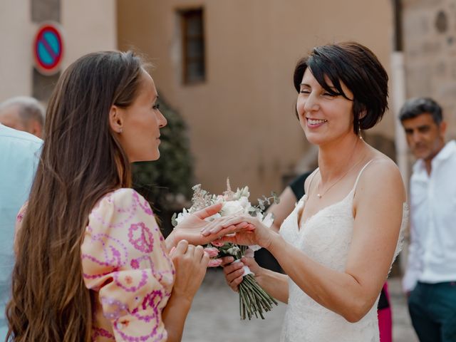
<instances>
[{"instance_id":1,"label":"smiling face of the short-haired bride","mask_svg":"<svg viewBox=\"0 0 456 342\"><path fill-rule=\"evenodd\" d=\"M326 84L333 88L331 81L325 77ZM353 99L353 93L341 82L343 92ZM333 88L337 92L336 88ZM323 88L310 68L302 78L296 110L299 123L307 140L315 145L324 145L344 135L353 133L353 101L343 95L332 95Z\"/></svg>"}]
</instances>

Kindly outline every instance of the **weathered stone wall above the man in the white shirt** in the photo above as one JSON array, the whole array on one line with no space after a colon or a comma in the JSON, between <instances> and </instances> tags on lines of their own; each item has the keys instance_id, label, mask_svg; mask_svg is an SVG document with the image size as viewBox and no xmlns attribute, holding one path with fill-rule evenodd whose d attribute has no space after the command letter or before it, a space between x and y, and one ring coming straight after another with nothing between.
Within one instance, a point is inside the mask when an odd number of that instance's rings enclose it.
<instances>
[{"instance_id":1,"label":"weathered stone wall above the man in the white shirt","mask_svg":"<svg viewBox=\"0 0 456 342\"><path fill-rule=\"evenodd\" d=\"M407 96L430 96L444 108L456 138L456 0L403 1Z\"/></svg>"}]
</instances>

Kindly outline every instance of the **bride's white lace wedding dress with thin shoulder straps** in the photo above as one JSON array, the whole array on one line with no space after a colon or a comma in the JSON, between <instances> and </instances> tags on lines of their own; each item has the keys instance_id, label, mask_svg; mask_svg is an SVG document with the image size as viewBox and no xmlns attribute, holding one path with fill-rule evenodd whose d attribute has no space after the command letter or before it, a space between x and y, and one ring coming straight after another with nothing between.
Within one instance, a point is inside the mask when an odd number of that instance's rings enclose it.
<instances>
[{"instance_id":1,"label":"bride's white lace wedding dress with thin shoulder straps","mask_svg":"<svg viewBox=\"0 0 456 342\"><path fill-rule=\"evenodd\" d=\"M353 236L353 197L358 180L370 162L361 169L353 189L344 199L321 209L306 220L304 229L299 229L299 211L307 199L307 195L304 195L281 225L280 234L286 242L306 253L314 261L331 269L344 271ZM394 259L402 248L407 219L408 207L404 203L400 238ZM378 298L366 316L356 323L350 323L343 316L311 299L289 278L289 301L280 341L378 342L377 304Z\"/></svg>"}]
</instances>

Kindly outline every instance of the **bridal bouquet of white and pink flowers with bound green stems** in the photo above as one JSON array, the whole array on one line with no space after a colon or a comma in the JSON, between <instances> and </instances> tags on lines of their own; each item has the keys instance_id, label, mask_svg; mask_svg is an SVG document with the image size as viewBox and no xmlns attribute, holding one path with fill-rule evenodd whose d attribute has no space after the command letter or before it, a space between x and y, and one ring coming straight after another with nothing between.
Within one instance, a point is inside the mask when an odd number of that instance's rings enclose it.
<instances>
[{"instance_id":1,"label":"bridal bouquet of white and pink flowers with bound green stems","mask_svg":"<svg viewBox=\"0 0 456 342\"><path fill-rule=\"evenodd\" d=\"M219 213L208 217L208 220L212 220L216 217L232 216L237 214L249 214L252 217L257 217L266 227L270 227L274 222L272 214L264 216L263 211L265 204L279 203L279 198L274 192L271 192L271 197L265 197L258 199L259 204L253 206L249 202L249 187L243 187L237 189L236 192L231 190L229 185L229 179L227 180L227 191L223 195L211 195L209 192L202 190L201 185L195 185L192 187L194 191L192 197L192 207L190 209L184 209L180 214L174 214L172 217L172 224L177 225L184 217L199 209L209 207L209 205L222 203L222 209ZM222 259L219 257L233 256L235 261L239 262L240 259L247 254L253 255L253 252L260 249L259 246L241 246L232 243L217 242L217 240L207 245L204 250L209 253L212 258L209 261L209 266L219 266ZM264 319L263 313L272 309L272 304L277 302L264 289L259 286L254 278L254 274L249 270L247 266L244 266L244 279L239 284L239 314L241 319L244 320L246 317L249 320L256 316Z\"/></svg>"}]
</instances>

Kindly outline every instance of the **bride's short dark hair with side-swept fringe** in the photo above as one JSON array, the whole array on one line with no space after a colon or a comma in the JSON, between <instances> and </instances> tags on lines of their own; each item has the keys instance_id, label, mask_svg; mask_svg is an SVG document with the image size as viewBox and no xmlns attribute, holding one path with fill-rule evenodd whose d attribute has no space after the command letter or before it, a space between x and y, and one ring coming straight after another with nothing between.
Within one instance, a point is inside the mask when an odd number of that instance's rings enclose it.
<instances>
[{"instance_id":1,"label":"bride's short dark hair with side-swept fringe","mask_svg":"<svg viewBox=\"0 0 456 342\"><path fill-rule=\"evenodd\" d=\"M388 109L388 73L366 46L353 41L316 46L294 69L294 88L298 93L307 68L328 93L353 100L355 134L358 128L367 130L383 118ZM336 90L328 86L325 76ZM353 99L343 93L341 82L351 90Z\"/></svg>"}]
</instances>

